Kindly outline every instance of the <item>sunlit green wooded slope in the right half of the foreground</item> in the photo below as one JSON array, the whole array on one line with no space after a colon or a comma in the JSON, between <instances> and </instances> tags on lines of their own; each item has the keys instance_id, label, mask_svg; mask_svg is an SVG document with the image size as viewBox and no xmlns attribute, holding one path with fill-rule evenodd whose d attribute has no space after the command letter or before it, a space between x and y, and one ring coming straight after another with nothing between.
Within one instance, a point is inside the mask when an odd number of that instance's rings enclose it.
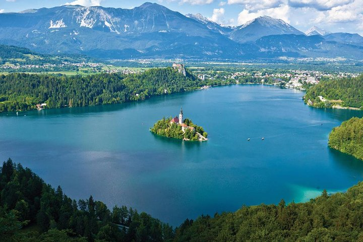
<instances>
[{"instance_id":1,"label":"sunlit green wooded slope in the right half of the foreground","mask_svg":"<svg viewBox=\"0 0 363 242\"><path fill-rule=\"evenodd\" d=\"M307 203L244 206L201 216L176 229L174 241L363 241L363 183Z\"/></svg>"}]
</instances>

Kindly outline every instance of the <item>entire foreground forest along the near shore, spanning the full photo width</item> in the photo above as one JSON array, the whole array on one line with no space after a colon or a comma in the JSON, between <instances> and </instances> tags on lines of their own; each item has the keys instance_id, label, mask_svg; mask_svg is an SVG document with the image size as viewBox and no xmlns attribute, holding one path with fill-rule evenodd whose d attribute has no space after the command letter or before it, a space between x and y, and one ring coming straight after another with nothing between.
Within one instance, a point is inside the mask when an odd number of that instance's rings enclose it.
<instances>
[{"instance_id":1,"label":"entire foreground forest along the near shore, spanning the full photo width","mask_svg":"<svg viewBox=\"0 0 363 242\"><path fill-rule=\"evenodd\" d=\"M0 170L0 241L363 241L363 183L307 203L243 206L173 229L132 208L72 200L11 159Z\"/></svg>"}]
</instances>

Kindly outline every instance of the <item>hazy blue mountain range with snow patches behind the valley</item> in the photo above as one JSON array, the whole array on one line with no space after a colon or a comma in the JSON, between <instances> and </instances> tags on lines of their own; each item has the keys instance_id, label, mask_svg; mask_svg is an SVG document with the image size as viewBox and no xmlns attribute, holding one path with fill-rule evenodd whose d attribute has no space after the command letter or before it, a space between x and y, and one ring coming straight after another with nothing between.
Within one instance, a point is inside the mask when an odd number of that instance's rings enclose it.
<instances>
[{"instance_id":1,"label":"hazy blue mountain range with snow patches behind the valley","mask_svg":"<svg viewBox=\"0 0 363 242\"><path fill-rule=\"evenodd\" d=\"M0 14L0 43L101 58L363 59L363 37L315 27L307 34L268 16L237 27L145 3L134 9L61 6Z\"/></svg>"}]
</instances>

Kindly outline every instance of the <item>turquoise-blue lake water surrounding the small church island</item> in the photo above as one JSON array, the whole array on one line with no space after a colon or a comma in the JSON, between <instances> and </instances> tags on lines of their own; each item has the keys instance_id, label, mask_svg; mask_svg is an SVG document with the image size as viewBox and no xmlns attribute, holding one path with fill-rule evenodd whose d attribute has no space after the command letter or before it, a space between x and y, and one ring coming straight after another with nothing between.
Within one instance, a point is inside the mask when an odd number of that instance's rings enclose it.
<instances>
[{"instance_id":1,"label":"turquoise-blue lake water surrounding the small church island","mask_svg":"<svg viewBox=\"0 0 363 242\"><path fill-rule=\"evenodd\" d=\"M92 194L109 208L132 206L172 225L281 198L308 201L323 189L345 191L362 179L363 161L329 149L328 135L363 112L314 109L303 95L232 85L119 105L2 113L0 160L21 162L71 198ZM181 106L208 132L207 142L149 132Z\"/></svg>"}]
</instances>

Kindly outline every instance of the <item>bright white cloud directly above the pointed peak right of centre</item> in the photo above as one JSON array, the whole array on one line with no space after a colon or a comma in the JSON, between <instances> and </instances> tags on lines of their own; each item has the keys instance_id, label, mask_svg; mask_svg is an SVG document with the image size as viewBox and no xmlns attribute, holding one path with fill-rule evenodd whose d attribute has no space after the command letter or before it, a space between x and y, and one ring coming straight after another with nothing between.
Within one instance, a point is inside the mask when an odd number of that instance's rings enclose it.
<instances>
[{"instance_id":1,"label":"bright white cloud directly above the pointed peak right of centre","mask_svg":"<svg viewBox=\"0 0 363 242\"><path fill-rule=\"evenodd\" d=\"M246 22L256 19L260 16L270 16L272 18L282 19L283 21L290 23L289 11L290 8L288 5L281 5L277 8L271 9L262 9L258 10L257 12L250 12L249 10L244 9L238 14L238 25L245 24Z\"/></svg>"}]
</instances>

